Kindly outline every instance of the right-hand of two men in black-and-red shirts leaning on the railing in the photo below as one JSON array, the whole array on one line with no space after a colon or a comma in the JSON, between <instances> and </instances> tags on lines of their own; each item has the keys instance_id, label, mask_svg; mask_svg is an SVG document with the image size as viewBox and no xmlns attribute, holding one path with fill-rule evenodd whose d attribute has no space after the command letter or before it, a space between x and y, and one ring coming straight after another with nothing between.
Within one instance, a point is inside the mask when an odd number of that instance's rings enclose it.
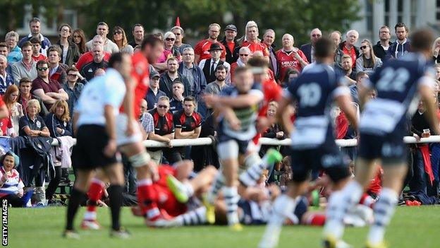
<instances>
[{"instance_id":1,"label":"right-hand of two men in black-and-red shirts leaning on the railing","mask_svg":"<svg viewBox=\"0 0 440 248\"><path fill-rule=\"evenodd\" d=\"M183 100L183 110L173 113L175 138L199 138L202 126L202 117L195 112L197 102L192 96Z\"/></svg>"}]
</instances>

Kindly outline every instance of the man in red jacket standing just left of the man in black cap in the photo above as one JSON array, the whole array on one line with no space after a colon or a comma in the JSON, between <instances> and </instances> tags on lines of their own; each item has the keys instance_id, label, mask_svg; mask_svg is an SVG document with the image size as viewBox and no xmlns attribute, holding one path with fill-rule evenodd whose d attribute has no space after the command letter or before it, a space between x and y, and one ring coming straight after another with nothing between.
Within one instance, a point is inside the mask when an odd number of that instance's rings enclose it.
<instances>
[{"instance_id":1,"label":"man in red jacket standing just left of the man in black cap","mask_svg":"<svg viewBox=\"0 0 440 248\"><path fill-rule=\"evenodd\" d=\"M226 59L226 47L224 47L224 45L217 40L220 34L220 29L220 25L217 23L212 23L211 25L209 25L209 37L206 40L200 40L194 47L195 64L199 64L202 59L211 58L212 54L209 52L209 49L211 49L212 44L219 44L219 46L221 47L220 58L222 60Z\"/></svg>"}]
</instances>

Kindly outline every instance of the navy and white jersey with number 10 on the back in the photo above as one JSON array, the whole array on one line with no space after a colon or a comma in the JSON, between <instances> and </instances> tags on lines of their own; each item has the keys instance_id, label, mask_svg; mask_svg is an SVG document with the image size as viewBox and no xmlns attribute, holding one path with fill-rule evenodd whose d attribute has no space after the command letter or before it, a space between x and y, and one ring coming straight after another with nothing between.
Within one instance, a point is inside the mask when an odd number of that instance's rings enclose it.
<instances>
[{"instance_id":1,"label":"navy and white jersey with number 10 on the back","mask_svg":"<svg viewBox=\"0 0 440 248\"><path fill-rule=\"evenodd\" d=\"M350 95L348 79L326 64L316 64L301 73L284 91L285 98L298 102L292 146L312 149L326 142L334 143L331 107L334 98Z\"/></svg>"}]
</instances>

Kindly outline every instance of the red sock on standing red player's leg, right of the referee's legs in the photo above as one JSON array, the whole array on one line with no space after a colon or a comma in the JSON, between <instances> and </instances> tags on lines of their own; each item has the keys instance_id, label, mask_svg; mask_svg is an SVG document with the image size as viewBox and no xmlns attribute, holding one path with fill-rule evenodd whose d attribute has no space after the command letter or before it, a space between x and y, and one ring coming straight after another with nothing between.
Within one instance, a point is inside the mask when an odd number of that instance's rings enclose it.
<instances>
[{"instance_id":1,"label":"red sock on standing red player's leg, right of the referee's legs","mask_svg":"<svg viewBox=\"0 0 440 248\"><path fill-rule=\"evenodd\" d=\"M138 204L142 215L152 220L160 215L159 208L155 201L156 191L153 188L152 179L142 179L138 181Z\"/></svg>"}]
</instances>

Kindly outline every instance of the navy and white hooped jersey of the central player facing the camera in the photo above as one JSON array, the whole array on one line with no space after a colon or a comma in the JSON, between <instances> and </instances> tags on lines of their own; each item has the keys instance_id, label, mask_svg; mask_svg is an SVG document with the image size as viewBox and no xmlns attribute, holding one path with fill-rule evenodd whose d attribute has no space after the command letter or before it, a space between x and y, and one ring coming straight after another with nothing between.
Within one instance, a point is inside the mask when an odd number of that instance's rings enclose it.
<instances>
[{"instance_id":1,"label":"navy and white hooped jersey of the central player facing the camera","mask_svg":"<svg viewBox=\"0 0 440 248\"><path fill-rule=\"evenodd\" d=\"M263 93L260 86L257 84L252 85L252 88L247 92L247 94L255 95L256 98L263 99ZM240 95L239 91L235 87L228 87L221 90L220 96L235 97ZM233 112L236 114L237 118L240 120L240 130L236 131L231 128L224 117L219 117L219 134L226 135L231 138L236 138L239 141L250 141L257 134L257 129L255 127L257 122L259 104L249 106L233 108Z\"/></svg>"}]
</instances>

